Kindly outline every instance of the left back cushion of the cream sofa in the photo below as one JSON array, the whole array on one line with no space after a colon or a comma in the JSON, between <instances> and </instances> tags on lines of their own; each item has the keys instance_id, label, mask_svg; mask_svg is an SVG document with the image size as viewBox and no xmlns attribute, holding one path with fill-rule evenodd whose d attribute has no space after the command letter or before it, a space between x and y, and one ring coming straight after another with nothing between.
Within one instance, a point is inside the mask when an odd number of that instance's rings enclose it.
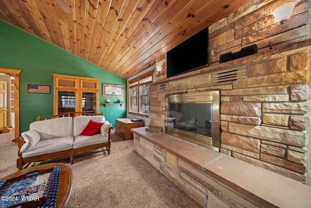
<instances>
[{"instance_id":1,"label":"left back cushion of the cream sofa","mask_svg":"<svg viewBox=\"0 0 311 208\"><path fill-rule=\"evenodd\" d=\"M60 117L42 121L35 121L30 124L29 129L35 130L40 134L40 141L72 136L72 117Z\"/></svg>"}]
</instances>

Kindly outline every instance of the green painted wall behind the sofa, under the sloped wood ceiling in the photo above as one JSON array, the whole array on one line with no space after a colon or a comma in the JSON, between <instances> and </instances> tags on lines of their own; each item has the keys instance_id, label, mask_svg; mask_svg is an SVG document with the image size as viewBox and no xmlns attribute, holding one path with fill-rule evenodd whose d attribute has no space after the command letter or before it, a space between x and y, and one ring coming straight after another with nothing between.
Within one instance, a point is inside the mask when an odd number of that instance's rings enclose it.
<instances>
[{"instance_id":1,"label":"green painted wall behind the sofa, under the sloped wood ceiling","mask_svg":"<svg viewBox=\"0 0 311 208\"><path fill-rule=\"evenodd\" d=\"M0 20L0 68L18 69L20 73L20 133L29 130L37 115L53 114L53 75L84 76L100 79L100 103L106 99L126 102L126 79L77 57L40 38ZM103 97L102 84L124 86L123 97ZM28 84L49 85L50 94L27 93ZM115 126L115 119L126 117L127 105L100 104L100 113Z\"/></svg>"}]
</instances>

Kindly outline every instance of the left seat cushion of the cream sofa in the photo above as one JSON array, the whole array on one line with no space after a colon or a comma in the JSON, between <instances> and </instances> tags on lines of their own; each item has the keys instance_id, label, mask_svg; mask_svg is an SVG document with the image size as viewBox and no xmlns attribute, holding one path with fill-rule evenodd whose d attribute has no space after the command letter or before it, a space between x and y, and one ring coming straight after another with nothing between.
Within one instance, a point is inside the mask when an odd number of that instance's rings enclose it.
<instances>
[{"instance_id":1,"label":"left seat cushion of the cream sofa","mask_svg":"<svg viewBox=\"0 0 311 208\"><path fill-rule=\"evenodd\" d=\"M23 158L33 157L43 154L49 154L58 151L66 151L72 149L73 136L47 139L39 141L34 148L22 153Z\"/></svg>"}]
</instances>

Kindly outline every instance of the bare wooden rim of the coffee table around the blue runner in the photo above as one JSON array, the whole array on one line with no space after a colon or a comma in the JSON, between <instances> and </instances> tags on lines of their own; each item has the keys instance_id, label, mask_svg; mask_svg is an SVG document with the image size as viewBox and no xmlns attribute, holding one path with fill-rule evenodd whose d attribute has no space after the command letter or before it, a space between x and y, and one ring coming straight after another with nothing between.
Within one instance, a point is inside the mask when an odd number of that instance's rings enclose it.
<instances>
[{"instance_id":1,"label":"bare wooden rim of the coffee table around the blue runner","mask_svg":"<svg viewBox=\"0 0 311 208\"><path fill-rule=\"evenodd\" d=\"M38 165L34 167L30 167L27 169L19 170L15 173L12 173L10 175L7 175L0 180L5 180L13 177L17 177L26 173L29 173L34 170L45 170L52 168L54 166L62 166L61 173L60 173L60 179L59 179L59 188L58 188L58 193L57 193L57 198L56 198L56 208L65 208L70 192L72 189L72 170L70 169L69 166L61 163L48 163L48 164L43 164L43 165Z\"/></svg>"}]
</instances>

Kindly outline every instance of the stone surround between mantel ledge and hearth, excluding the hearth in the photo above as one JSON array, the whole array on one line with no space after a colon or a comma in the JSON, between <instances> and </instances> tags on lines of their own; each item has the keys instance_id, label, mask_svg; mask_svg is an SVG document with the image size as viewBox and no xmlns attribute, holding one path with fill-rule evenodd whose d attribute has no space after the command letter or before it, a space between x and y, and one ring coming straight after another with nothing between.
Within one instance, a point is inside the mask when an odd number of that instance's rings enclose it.
<instances>
[{"instance_id":1,"label":"stone surround between mantel ledge and hearth, excluding the hearth","mask_svg":"<svg viewBox=\"0 0 311 208\"><path fill-rule=\"evenodd\" d=\"M165 131L165 95L220 91L221 152L308 183L311 39L155 82L150 125ZM236 77L218 81L224 73Z\"/></svg>"}]
</instances>

